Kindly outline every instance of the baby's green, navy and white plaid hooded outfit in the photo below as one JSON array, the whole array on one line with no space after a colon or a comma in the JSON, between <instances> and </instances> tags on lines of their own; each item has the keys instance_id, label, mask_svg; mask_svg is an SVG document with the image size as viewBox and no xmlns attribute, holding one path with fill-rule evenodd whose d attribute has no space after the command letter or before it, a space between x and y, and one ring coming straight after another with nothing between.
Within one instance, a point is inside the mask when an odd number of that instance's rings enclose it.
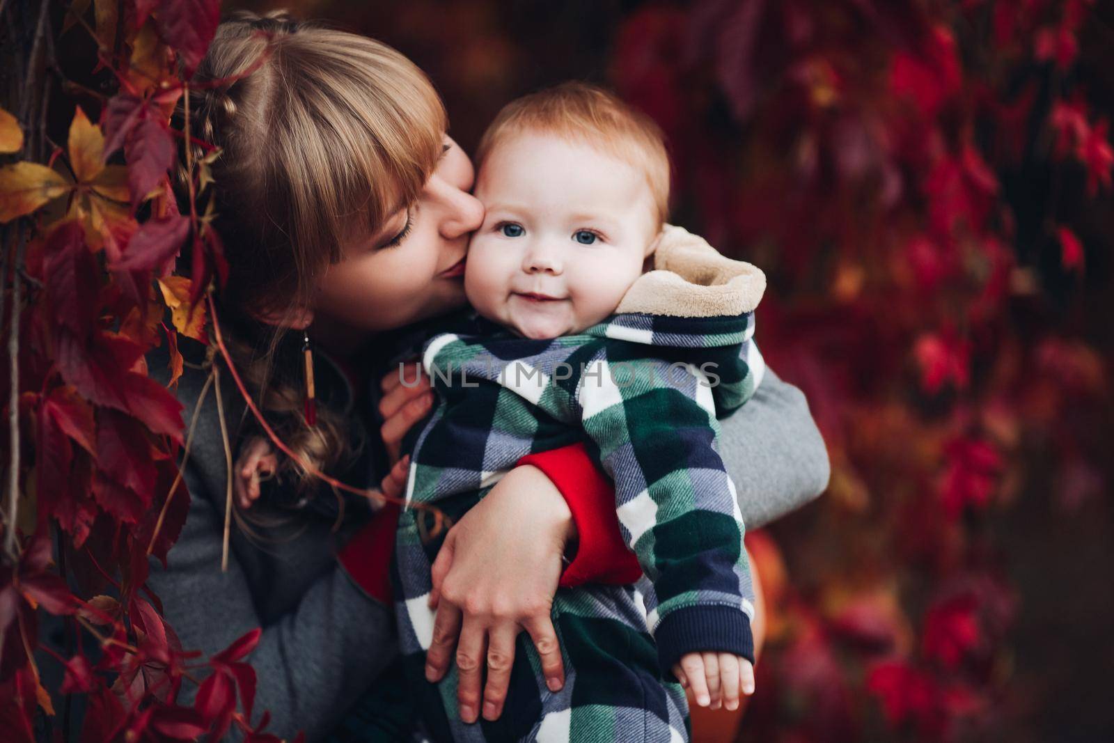
<instances>
[{"instance_id":1,"label":"baby's green, navy and white plaid hooded outfit","mask_svg":"<svg viewBox=\"0 0 1114 743\"><path fill-rule=\"evenodd\" d=\"M437 686L422 678L433 619L430 565L440 544L423 542L419 519L427 516L405 509L392 575L408 675L428 695L423 714L443 707L443 717L427 722L455 740L532 740L539 731L551 740L686 739L673 664L697 651L753 661L742 515L717 443L719 419L753 394L764 370L753 313L620 314L549 340L472 320L473 332L443 333L423 346L439 404L413 440L407 500L459 518L520 457L584 441L615 481L623 537L645 575L634 586L558 592L565 690L545 687L521 635L511 712L463 725L455 676Z\"/></svg>"}]
</instances>

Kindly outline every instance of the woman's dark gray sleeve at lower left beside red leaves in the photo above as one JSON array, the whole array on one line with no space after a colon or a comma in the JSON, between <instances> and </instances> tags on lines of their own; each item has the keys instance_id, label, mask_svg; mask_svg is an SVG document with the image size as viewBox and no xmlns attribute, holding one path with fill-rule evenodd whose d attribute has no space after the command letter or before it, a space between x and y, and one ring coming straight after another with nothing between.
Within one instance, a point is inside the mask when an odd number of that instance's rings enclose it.
<instances>
[{"instance_id":1,"label":"woman's dark gray sleeve at lower left beside red leaves","mask_svg":"<svg viewBox=\"0 0 1114 743\"><path fill-rule=\"evenodd\" d=\"M192 495L185 525L168 567L152 558L148 586L160 597L182 646L205 657L262 627L247 657L258 678L252 722L268 711L267 732L293 740L305 731L309 741L323 739L395 657L389 607L333 563L295 607L264 623L235 549L227 571L221 570L223 509L208 497L192 463L185 480ZM184 684L178 702L192 704L196 691Z\"/></svg>"}]
</instances>

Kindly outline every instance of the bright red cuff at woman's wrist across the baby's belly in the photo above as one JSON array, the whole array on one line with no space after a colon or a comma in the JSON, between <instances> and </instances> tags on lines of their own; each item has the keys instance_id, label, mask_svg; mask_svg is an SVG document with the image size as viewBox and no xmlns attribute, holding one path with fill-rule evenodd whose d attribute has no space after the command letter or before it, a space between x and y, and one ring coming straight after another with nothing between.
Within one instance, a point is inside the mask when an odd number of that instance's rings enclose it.
<instances>
[{"instance_id":1,"label":"bright red cuff at woman's wrist across the baby's belly","mask_svg":"<svg viewBox=\"0 0 1114 743\"><path fill-rule=\"evenodd\" d=\"M561 574L561 587L584 583L622 585L642 577L637 558L619 534L615 486L588 457L583 442L526 454L518 463L545 472L573 512L579 544Z\"/></svg>"}]
</instances>

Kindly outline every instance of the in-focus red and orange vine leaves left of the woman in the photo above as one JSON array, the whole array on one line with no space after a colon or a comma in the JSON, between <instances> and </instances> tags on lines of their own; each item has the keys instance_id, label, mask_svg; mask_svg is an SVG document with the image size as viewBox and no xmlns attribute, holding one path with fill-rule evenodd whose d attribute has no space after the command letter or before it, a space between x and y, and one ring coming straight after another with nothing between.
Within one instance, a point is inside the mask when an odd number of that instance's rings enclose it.
<instances>
[{"instance_id":1,"label":"in-focus red and orange vine leaves left of the woman","mask_svg":"<svg viewBox=\"0 0 1114 743\"><path fill-rule=\"evenodd\" d=\"M144 585L148 555L165 564L189 506L177 465L177 339L208 340L204 299L225 273L211 205L197 204L217 153L186 163L188 213L169 185L192 136L172 116L187 105L218 3L86 0L58 11L23 3L4 18L19 42L6 63L26 80L17 106L0 111L0 151L10 154L0 167L10 361L0 375L10 390L0 730L6 741L164 741L216 740L236 725L247 740L276 740L262 732L265 715L260 730L247 723L255 672L243 658L260 630L199 658ZM95 40L113 95L65 79L56 45L77 33ZM58 87L76 101L49 100ZM72 119L56 144L43 117L61 107ZM188 277L175 275L187 256ZM163 343L172 389L145 361ZM43 613L61 617L67 654L39 642ZM95 655L82 649L89 637ZM47 690L39 665L51 656L65 680ZM192 706L177 702L183 683L199 684ZM71 730L72 695L87 697L81 730Z\"/></svg>"}]
</instances>

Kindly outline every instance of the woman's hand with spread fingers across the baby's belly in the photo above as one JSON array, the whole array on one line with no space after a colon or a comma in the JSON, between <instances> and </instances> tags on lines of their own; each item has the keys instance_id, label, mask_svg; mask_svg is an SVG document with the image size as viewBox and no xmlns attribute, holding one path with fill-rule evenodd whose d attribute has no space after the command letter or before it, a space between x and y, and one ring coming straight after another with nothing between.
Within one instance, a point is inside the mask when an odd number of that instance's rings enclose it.
<instances>
[{"instance_id":1,"label":"woman's hand with spread fingers across the baby's belly","mask_svg":"<svg viewBox=\"0 0 1114 743\"><path fill-rule=\"evenodd\" d=\"M515 638L526 630L541 658L546 685L565 684L549 616L573 518L557 488L536 467L516 467L450 530L433 563L430 606L437 607L426 677L444 676L456 645L460 718L475 722L487 664L482 713L502 714ZM459 634L459 642L457 641Z\"/></svg>"}]
</instances>

